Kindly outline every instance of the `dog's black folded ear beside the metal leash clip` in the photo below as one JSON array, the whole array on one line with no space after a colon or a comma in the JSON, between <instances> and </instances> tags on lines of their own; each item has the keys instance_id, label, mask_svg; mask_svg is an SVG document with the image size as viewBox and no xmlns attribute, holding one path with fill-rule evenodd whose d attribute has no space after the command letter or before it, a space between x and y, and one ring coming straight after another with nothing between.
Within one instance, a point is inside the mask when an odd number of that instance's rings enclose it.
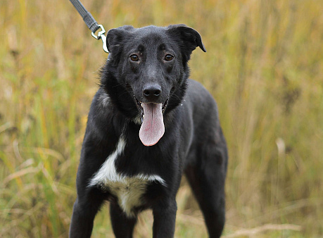
<instances>
[{"instance_id":1,"label":"dog's black folded ear beside the metal leash clip","mask_svg":"<svg viewBox=\"0 0 323 238\"><path fill-rule=\"evenodd\" d=\"M122 42L127 38L129 32L132 32L134 27L131 25L124 25L122 27L114 28L108 31L106 35L106 46L108 47L108 51L115 55L120 51L120 46L122 46Z\"/></svg>"}]
</instances>

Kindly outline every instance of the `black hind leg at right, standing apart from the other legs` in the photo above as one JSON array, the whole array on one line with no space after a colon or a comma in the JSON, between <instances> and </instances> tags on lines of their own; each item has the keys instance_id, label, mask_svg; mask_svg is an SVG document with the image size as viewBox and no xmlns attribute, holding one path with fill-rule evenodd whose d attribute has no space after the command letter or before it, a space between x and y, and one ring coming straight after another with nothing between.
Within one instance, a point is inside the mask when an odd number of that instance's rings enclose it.
<instances>
[{"instance_id":1,"label":"black hind leg at right, standing apart from the other legs","mask_svg":"<svg viewBox=\"0 0 323 238\"><path fill-rule=\"evenodd\" d=\"M201 157L186 166L185 174L203 212L210 237L220 237L225 222L227 147L224 142L222 146L203 145L203 148Z\"/></svg>"}]
</instances>

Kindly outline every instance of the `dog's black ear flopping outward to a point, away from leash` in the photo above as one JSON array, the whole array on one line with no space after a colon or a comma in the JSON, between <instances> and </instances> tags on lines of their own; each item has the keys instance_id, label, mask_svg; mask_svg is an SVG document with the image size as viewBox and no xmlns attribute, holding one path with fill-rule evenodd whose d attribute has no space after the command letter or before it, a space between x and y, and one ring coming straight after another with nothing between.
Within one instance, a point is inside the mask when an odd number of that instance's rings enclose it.
<instances>
[{"instance_id":1,"label":"dog's black ear flopping outward to a point, away from leash","mask_svg":"<svg viewBox=\"0 0 323 238\"><path fill-rule=\"evenodd\" d=\"M202 43L201 35L193 28L187 27L184 24L170 25L167 27L167 32L173 37L179 39L179 46L181 51L186 52L186 56L188 56L187 59L189 59L189 55L197 46L199 46L202 51L206 52Z\"/></svg>"}]
</instances>

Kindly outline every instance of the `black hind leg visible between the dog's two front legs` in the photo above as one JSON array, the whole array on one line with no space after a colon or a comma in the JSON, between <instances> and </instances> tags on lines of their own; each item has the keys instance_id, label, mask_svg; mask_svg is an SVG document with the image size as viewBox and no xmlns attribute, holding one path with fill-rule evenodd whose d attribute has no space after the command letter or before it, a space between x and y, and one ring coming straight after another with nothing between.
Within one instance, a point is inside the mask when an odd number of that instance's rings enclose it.
<instances>
[{"instance_id":1,"label":"black hind leg visible between the dog's two front legs","mask_svg":"<svg viewBox=\"0 0 323 238\"><path fill-rule=\"evenodd\" d=\"M110 203L110 218L115 237L132 237L134 225L137 223L137 218L128 218L115 203Z\"/></svg>"}]
</instances>

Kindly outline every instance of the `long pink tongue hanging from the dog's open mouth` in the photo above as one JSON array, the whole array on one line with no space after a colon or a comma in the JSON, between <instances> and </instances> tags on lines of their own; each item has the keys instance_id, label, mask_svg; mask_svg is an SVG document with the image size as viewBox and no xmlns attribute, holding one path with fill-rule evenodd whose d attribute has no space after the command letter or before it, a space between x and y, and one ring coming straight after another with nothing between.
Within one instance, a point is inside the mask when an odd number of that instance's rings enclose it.
<instances>
[{"instance_id":1,"label":"long pink tongue hanging from the dog's open mouth","mask_svg":"<svg viewBox=\"0 0 323 238\"><path fill-rule=\"evenodd\" d=\"M144 121L139 130L139 138L145 146L156 144L165 132L162 104L142 104Z\"/></svg>"}]
</instances>

